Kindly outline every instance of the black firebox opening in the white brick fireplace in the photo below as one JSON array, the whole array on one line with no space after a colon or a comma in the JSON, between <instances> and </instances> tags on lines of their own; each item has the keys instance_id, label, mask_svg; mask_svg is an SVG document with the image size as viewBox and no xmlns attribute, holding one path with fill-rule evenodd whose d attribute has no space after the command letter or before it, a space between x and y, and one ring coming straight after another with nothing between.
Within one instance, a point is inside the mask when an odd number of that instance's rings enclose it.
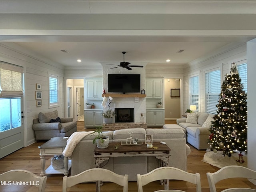
<instances>
[{"instance_id":1,"label":"black firebox opening in the white brick fireplace","mask_svg":"<svg viewBox=\"0 0 256 192\"><path fill-rule=\"evenodd\" d=\"M134 122L134 108L115 108L115 122Z\"/></svg>"}]
</instances>

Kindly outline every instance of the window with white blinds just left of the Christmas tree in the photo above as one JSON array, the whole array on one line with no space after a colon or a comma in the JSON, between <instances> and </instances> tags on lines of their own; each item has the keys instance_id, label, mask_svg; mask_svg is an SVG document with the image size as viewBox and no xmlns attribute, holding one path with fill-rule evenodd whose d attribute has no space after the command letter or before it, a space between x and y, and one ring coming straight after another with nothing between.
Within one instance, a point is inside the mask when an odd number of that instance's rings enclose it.
<instances>
[{"instance_id":1,"label":"window with white blinds just left of the Christmas tree","mask_svg":"<svg viewBox=\"0 0 256 192\"><path fill-rule=\"evenodd\" d=\"M220 70L205 73L206 113L216 114L221 90Z\"/></svg>"}]
</instances>

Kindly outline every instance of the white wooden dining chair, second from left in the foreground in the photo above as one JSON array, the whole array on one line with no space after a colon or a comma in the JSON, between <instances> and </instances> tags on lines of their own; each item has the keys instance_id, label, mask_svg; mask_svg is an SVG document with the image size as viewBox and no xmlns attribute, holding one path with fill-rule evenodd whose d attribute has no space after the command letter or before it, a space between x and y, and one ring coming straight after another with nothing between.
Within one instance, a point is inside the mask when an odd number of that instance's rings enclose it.
<instances>
[{"instance_id":1,"label":"white wooden dining chair, second from left in the foreground","mask_svg":"<svg viewBox=\"0 0 256 192\"><path fill-rule=\"evenodd\" d=\"M74 176L64 176L62 192L66 192L68 187L72 187L76 184L94 181L98 181L96 182L96 191L100 191L99 181L107 181L123 186L123 192L128 192L128 175L118 175L110 170L103 168L92 168Z\"/></svg>"}]
</instances>

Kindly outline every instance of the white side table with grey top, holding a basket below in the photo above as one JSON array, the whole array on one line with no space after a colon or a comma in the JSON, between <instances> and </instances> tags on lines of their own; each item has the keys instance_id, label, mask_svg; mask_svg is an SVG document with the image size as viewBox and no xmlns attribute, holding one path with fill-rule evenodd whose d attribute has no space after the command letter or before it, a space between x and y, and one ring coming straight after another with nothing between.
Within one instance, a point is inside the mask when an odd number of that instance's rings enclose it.
<instances>
[{"instance_id":1,"label":"white side table with grey top, holding a basket below","mask_svg":"<svg viewBox=\"0 0 256 192\"><path fill-rule=\"evenodd\" d=\"M64 169L54 169L52 165L50 165L45 170L45 156L54 156L54 155L61 155L64 151L67 144L67 138L62 137L54 137L48 140L46 143L38 146L40 148L40 161L41 161L41 176L47 174L64 174L68 176L68 171L71 168L71 160L68 160L68 157L64 156Z\"/></svg>"}]
</instances>

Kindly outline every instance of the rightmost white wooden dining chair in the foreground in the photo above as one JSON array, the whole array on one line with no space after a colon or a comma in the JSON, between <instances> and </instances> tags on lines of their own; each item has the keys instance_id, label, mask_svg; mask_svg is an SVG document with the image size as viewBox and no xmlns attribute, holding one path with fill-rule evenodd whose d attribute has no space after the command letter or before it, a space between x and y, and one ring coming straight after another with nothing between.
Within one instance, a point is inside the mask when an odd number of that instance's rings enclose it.
<instances>
[{"instance_id":1,"label":"rightmost white wooden dining chair in the foreground","mask_svg":"<svg viewBox=\"0 0 256 192\"><path fill-rule=\"evenodd\" d=\"M220 170L214 173L206 173L208 183L210 186L210 192L216 191L216 183L221 180L229 179L229 178L248 178L248 179L256 179L256 171L248 169L242 166L225 166ZM252 188L227 188L222 190L221 192L256 192L255 189Z\"/></svg>"}]
</instances>

